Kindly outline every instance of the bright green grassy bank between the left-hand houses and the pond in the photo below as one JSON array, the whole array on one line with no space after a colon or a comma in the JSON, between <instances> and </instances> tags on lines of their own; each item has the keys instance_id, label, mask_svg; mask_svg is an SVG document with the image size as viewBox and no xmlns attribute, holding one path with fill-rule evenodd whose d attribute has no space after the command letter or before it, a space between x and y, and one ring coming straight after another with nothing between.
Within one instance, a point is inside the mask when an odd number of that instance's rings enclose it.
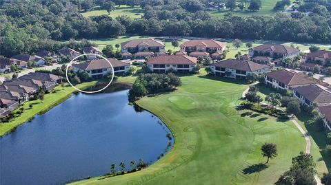
<instances>
[{"instance_id":1,"label":"bright green grassy bank between the left-hand houses and the pond","mask_svg":"<svg viewBox=\"0 0 331 185\"><path fill-rule=\"evenodd\" d=\"M79 89L86 89L91 85L94 85L96 82L90 83L82 83L77 85ZM76 91L70 85L66 85L66 87L62 88L59 85L55 87L54 93L46 94L44 100L32 100L28 102L24 102L21 107L24 108L23 113L17 116L10 122L1 123L0 124L0 137L9 133L10 131L14 131L16 127L27 122L28 120L33 119L33 117L39 113L45 113L46 111L52 109L52 107L59 105L59 103L63 102L67 98L71 96L71 94ZM32 108L29 106L32 105ZM13 113L16 114L19 111L19 108L14 110Z\"/></svg>"}]
</instances>

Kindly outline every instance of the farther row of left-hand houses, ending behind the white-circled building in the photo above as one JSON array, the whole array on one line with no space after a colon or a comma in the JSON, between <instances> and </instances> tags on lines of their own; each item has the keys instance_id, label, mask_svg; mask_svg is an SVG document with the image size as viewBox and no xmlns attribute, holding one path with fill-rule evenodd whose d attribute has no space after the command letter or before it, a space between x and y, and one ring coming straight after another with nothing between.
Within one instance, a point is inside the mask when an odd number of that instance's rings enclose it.
<instances>
[{"instance_id":1,"label":"farther row of left-hand houses, ending behind the white-circled building","mask_svg":"<svg viewBox=\"0 0 331 185\"><path fill-rule=\"evenodd\" d=\"M99 54L102 55L102 52L97 47L84 47L83 54ZM46 63L46 59L50 58L51 63L61 62L62 58L72 59L76 56L81 55L81 52L77 52L70 48L64 48L58 50L57 52L49 52L42 50L36 54L17 54L11 58L0 57L0 73L10 73L11 66L17 65L19 69L26 69L28 67L28 62L32 62L35 67L42 67ZM90 60L96 59L97 56L89 55Z\"/></svg>"}]
</instances>

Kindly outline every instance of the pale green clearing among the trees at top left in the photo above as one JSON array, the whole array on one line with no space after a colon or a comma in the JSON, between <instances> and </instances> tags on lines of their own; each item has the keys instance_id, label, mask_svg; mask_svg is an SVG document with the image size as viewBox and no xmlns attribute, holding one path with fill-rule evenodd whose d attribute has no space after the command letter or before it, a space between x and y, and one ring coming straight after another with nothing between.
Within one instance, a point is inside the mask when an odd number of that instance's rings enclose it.
<instances>
[{"instance_id":1,"label":"pale green clearing among the trees at top left","mask_svg":"<svg viewBox=\"0 0 331 185\"><path fill-rule=\"evenodd\" d=\"M97 8L98 9L98 8ZM99 16L106 14L108 15L108 12L106 10L92 10L89 12L83 12L83 17L92 17L92 16ZM116 18L121 15L126 15L132 19L141 19L141 16L143 15L143 10L140 7L129 7L129 6L121 6L117 7L116 10L110 12L110 17Z\"/></svg>"}]
</instances>

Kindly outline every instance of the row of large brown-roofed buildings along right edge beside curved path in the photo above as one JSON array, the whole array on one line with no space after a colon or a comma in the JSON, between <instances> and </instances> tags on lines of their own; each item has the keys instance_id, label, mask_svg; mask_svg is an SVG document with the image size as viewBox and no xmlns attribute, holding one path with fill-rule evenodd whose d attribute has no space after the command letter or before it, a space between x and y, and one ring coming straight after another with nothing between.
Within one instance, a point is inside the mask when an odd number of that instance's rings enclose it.
<instances>
[{"instance_id":1,"label":"row of large brown-roofed buildings along right edge beside curved path","mask_svg":"<svg viewBox=\"0 0 331 185\"><path fill-rule=\"evenodd\" d=\"M265 85L274 89L292 90L302 105L317 107L324 116L324 126L331 131L331 87L308 75L280 70L265 74Z\"/></svg>"}]
</instances>

